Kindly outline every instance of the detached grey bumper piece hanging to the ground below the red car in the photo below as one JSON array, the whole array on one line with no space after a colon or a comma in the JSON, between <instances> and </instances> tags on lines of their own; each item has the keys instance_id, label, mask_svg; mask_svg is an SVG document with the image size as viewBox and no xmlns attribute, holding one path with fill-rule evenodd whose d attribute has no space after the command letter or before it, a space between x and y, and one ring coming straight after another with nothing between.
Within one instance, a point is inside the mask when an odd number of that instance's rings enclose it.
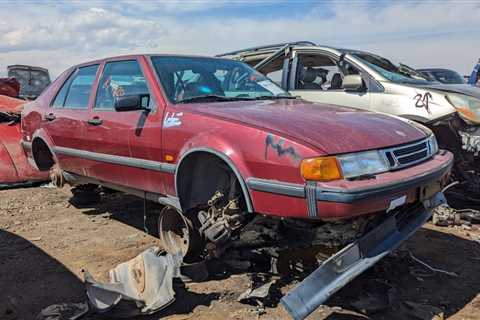
<instances>
[{"instance_id":1,"label":"detached grey bumper piece hanging to the ground below the red car","mask_svg":"<svg viewBox=\"0 0 480 320\"><path fill-rule=\"evenodd\" d=\"M304 319L336 291L400 246L431 217L431 209L445 203L442 193L412 210L398 212L326 260L281 299L295 319Z\"/></svg>"}]
</instances>

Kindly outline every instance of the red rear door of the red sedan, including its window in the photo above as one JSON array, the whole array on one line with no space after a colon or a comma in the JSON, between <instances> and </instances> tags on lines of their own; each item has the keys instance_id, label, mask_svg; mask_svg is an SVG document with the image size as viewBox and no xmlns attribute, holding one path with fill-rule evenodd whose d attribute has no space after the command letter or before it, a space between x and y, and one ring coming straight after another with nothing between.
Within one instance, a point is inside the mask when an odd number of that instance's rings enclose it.
<instances>
[{"instance_id":1,"label":"red rear door of the red sedan, including its window","mask_svg":"<svg viewBox=\"0 0 480 320\"><path fill-rule=\"evenodd\" d=\"M87 175L81 153L89 144L85 129L98 68L94 64L74 70L44 114L44 128L54 142L60 166L82 175Z\"/></svg>"}]
</instances>

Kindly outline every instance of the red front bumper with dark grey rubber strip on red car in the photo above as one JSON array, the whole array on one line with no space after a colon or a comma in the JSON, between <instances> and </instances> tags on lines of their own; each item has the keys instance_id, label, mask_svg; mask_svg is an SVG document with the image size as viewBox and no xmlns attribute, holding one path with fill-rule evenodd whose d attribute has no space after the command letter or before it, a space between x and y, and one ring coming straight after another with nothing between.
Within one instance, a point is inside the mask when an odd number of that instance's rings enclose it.
<instances>
[{"instance_id":1,"label":"red front bumper with dark grey rubber strip on red car","mask_svg":"<svg viewBox=\"0 0 480 320\"><path fill-rule=\"evenodd\" d=\"M428 161L382 173L370 180L308 181L302 185L250 178L247 185L256 192L257 212L296 218L345 219L394 209L392 203L401 206L431 197L445 185L452 164L453 155L442 150ZM270 207L263 209L262 203L272 201ZM300 212L301 202L303 212Z\"/></svg>"}]
</instances>

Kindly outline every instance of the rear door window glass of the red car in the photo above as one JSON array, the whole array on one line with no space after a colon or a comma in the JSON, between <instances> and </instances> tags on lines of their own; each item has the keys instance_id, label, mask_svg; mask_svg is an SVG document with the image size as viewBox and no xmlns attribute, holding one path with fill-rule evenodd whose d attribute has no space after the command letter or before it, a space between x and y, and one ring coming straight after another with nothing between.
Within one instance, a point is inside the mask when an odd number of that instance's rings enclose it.
<instances>
[{"instance_id":1,"label":"rear door window glass of the red car","mask_svg":"<svg viewBox=\"0 0 480 320\"><path fill-rule=\"evenodd\" d=\"M88 98L95 82L97 69L98 65L78 68L65 99L65 108L88 108Z\"/></svg>"}]
</instances>

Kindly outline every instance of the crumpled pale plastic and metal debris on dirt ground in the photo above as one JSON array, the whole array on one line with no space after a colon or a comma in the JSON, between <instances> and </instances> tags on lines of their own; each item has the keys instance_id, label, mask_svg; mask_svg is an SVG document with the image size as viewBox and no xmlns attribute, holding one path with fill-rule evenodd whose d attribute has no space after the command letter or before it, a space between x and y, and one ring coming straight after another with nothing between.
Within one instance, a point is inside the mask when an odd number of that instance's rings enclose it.
<instances>
[{"instance_id":1,"label":"crumpled pale plastic and metal debris on dirt ground","mask_svg":"<svg viewBox=\"0 0 480 320\"><path fill-rule=\"evenodd\" d=\"M110 270L109 283L99 283L85 271L89 305L106 313L125 302L123 316L157 312L175 300L173 278L179 277L181 263L181 256L151 247Z\"/></svg>"}]
</instances>

